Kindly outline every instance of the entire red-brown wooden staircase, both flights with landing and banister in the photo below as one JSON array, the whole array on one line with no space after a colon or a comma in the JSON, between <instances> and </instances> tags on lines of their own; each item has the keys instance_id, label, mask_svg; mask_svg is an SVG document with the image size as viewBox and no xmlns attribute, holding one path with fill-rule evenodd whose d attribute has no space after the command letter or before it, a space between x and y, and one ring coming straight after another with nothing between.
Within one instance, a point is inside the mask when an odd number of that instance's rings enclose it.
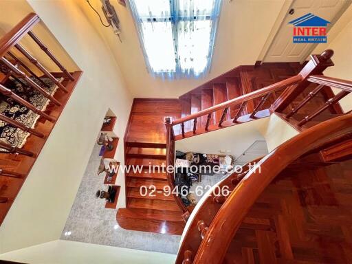
<instances>
[{"instance_id":1,"label":"entire red-brown wooden staircase, both flights with landing and banister","mask_svg":"<svg viewBox=\"0 0 352 264\"><path fill-rule=\"evenodd\" d=\"M191 210L179 196L164 195L165 188L175 187L173 173L148 171L148 166L173 165L176 140L265 118L273 111L298 131L342 115L338 100L348 93L350 82L311 75L333 65L332 54L312 56L303 69L296 63L236 67L178 100L136 98L124 139L125 164L144 169L126 173L126 208L117 215L122 228L181 234L181 220L187 221ZM331 90L335 83L344 89L338 96ZM146 196L141 188L148 188ZM142 218L135 209L148 211ZM168 218L170 212L178 221Z\"/></svg>"}]
</instances>

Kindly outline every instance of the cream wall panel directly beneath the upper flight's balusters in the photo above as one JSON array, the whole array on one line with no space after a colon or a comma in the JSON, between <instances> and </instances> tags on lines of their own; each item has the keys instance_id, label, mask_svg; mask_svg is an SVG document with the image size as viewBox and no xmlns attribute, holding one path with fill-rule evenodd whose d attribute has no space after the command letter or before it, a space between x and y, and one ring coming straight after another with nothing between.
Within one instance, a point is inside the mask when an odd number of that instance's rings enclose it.
<instances>
[{"instance_id":1,"label":"cream wall panel directly beneath the upper flight's balusters","mask_svg":"<svg viewBox=\"0 0 352 264\"><path fill-rule=\"evenodd\" d=\"M256 140L265 140L259 131L269 118L263 118L210 133L188 137L176 142L176 149L183 152L223 154L239 157ZM221 150L229 151L221 153Z\"/></svg>"}]
</instances>

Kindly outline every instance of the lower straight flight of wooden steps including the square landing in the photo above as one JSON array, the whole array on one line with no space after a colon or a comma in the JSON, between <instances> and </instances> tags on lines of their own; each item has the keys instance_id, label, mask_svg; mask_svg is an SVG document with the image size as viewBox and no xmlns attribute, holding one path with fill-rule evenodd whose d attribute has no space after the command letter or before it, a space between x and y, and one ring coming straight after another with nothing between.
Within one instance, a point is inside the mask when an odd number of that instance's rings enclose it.
<instances>
[{"instance_id":1,"label":"lower straight flight of wooden steps including the square landing","mask_svg":"<svg viewBox=\"0 0 352 264\"><path fill-rule=\"evenodd\" d=\"M153 166L166 164L163 118L166 115L179 117L180 114L178 100L133 101L124 139L125 164L135 168L142 166L142 169L133 171L130 167L125 173L126 208L119 209L116 216L122 228L161 234L181 234L184 230L182 210L173 196L164 195L164 188L168 187L166 172L153 171Z\"/></svg>"}]
</instances>

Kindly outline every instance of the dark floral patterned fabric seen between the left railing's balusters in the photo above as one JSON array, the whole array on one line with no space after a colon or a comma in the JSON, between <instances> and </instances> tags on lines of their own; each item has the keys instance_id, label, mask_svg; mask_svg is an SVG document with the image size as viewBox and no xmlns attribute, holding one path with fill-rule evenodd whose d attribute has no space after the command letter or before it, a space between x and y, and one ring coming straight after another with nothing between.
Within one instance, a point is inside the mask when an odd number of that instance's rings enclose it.
<instances>
[{"instance_id":1,"label":"dark floral patterned fabric seen between the left railing's balusters","mask_svg":"<svg viewBox=\"0 0 352 264\"><path fill-rule=\"evenodd\" d=\"M42 78L43 82L49 85L46 87L42 83L40 83L36 79L32 79L37 85L42 87L47 93L53 95L57 89L57 86L52 82L52 80L48 78ZM45 98L39 91L36 91L34 88L30 87L28 83L23 79L14 80L10 79L8 83L5 85L8 89L11 89L15 94L30 102L34 107L41 109L44 111L49 103L49 100ZM22 104L17 103L10 98L3 97L0 102L0 113L11 118L12 120L16 120L25 124L30 128L34 128L36 124L36 120L39 119L39 115L32 112L27 107ZM22 131L21 129L17 129L16 127L3 122L0 120L0 141L11 144L12 146L17 146L21 148L27 137L30 133ZM7 152L5 149L0 148L1 152Z\"/></svg>"}]
</instances>

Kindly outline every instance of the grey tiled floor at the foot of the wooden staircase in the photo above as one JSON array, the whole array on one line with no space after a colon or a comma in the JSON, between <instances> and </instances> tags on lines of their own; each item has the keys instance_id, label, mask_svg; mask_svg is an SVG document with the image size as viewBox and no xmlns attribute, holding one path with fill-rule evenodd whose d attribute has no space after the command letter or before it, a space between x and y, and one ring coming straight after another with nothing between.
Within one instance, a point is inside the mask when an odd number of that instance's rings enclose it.
<instances>
[{"instance_id":1,"label":"grey tiled floor at the foot of the wooden staircase","mask_svg":"<svg viewBox=\"0 0 352 264\"><path fill-rule=\"evenodd\" d=\"M96 145L61 239L176 254L181 236L124 230L116 222L117 209L104 208L105 201L95 197L97 190L107 188L102 175L96 175L99 151Z\"/></svg>"}]
</instances>

